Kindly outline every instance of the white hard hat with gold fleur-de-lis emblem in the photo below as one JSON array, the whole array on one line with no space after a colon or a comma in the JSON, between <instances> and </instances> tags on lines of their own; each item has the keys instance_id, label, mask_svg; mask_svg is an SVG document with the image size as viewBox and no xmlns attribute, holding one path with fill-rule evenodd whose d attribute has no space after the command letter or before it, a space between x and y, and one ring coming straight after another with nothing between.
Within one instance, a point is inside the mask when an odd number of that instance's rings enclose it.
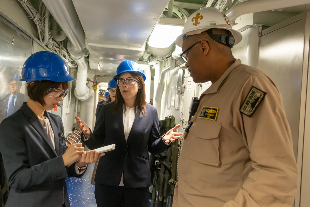
<instances>
[{"instance_id":1,"label":"white hard hat with gold fleur-de-lis emblem","mask_svg":"<svg viewBox=\"0 0 310 207\"><path fill-rule=\"evenodd\" d=\"M242 35L237 30L232 29L231 23L227 16L214 7L206 7L195 11L188 17L185 22L182 34L176 38L175 43L182 47L183 40L190 35L200 34L211 28L227 29L235 38L235 43L239 43Z\"/></svg>"}]
</instances>

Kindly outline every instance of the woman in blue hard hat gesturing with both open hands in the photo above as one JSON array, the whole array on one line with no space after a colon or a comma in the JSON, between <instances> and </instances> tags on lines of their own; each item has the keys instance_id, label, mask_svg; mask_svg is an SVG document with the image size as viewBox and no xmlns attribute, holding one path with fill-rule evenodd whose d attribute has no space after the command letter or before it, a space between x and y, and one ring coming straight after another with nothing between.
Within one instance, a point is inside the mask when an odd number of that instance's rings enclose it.
<instances>
[{"instance_id":1,"label":"woman in blue hard hat gesturing with both open hands","mask_svg":"<svg viewBox=\"0 0 310 207\"><path fill-rule=\"evenodd\" d=\"M151 174L148 152L159 154L182 133L159 135L157 109L145 102L145 75L134 61L123 61L114 76L114 102L103 105L94 132L78 117L83 142L90 149L115 144L100 158L95 176L98 207L149 206Z\"/></svg>"}]
</instances>

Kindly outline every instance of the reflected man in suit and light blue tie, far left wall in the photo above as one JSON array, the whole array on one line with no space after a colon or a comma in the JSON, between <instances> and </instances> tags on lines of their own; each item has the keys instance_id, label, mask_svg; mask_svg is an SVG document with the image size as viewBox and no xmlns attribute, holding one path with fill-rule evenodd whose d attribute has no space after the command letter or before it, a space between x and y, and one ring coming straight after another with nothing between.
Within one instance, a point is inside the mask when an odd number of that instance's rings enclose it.
<instances>
[{"instance_id":1,"label":"reflected man in suit and light blue tie, far left wall","mask_svg":"<svg viewBox=\"0 0 310 207\"><path fill-rule=\"evenodd\" d=\"M9 80L10 93L0 99L0 122L15 113L24 102L24 94L20 93L20 88L21 81L19 81L19 76L15 75Z\"/></svg>"}]
</instances>

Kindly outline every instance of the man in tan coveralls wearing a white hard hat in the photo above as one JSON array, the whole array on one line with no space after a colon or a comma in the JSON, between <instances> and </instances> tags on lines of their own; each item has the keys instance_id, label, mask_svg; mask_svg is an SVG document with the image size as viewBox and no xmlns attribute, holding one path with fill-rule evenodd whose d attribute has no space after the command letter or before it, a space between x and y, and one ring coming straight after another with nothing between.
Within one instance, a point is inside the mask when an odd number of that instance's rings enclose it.
<instances>
[{"instance_id":1,"label":"man in tan coveralls wearing a white hard hat","mask_svg":"<svg viewBox=\"0 0 310 207\"><path fill-rule=\"evenodd\" d=\"M183 140L173 207L291 207L297 164L281 94L232 56L241 41L215 8L193 13L176 43L202 93Z\"/></svg>"}]
</instances>

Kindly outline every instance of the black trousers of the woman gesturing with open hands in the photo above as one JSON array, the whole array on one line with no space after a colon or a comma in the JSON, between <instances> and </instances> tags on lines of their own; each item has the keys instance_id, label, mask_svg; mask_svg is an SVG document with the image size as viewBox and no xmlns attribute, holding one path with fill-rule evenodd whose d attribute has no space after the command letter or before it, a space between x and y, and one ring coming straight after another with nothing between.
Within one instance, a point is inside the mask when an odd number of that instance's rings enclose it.
<instances>
[{"instance_id":1,"label":"black trousers of the woman gesturing with open hands","mask_svg":"<svg viewBox=\"0 0 310 207\"><path fill-rule=\"evenodd\" d=\"M95 198L97 207L149 207L149 187L126 188L96 183Z\"/></svg>"}]
</instances>

